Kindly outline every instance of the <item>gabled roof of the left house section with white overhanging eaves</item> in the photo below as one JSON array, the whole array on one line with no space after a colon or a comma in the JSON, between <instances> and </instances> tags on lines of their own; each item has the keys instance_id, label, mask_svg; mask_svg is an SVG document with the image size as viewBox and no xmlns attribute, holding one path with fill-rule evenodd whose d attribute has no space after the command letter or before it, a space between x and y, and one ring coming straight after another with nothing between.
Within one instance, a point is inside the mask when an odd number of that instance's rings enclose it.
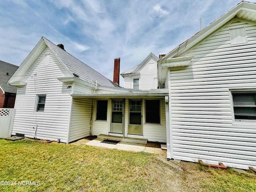
<instances>
[{"instance_id":1,"label":"gabled roof of the left house section with white overhanging eaves","mask_svg":"<svg viewBox=\"0 0 256 192\"><path fill-rule=\"evenodd\" d=\"M92 69L88 65L84 64L82 61L78 60L64 49L56 46L54 43L50 42L48 39L42 37L41 40L36 44L34 49L30 52L27 58L22 62L20 68L16 72L19 76L24 76L27 74L28 70L31 68L32 64L38 59L38 57L33 57L35 53L41 50L45 50L46 46L50 48L53 54L58 58L60 63L66 68L70 75L67 78L78 78L90 84L97 84L102 86L118 87L114 82L110 81L108 78ZM37 54L38 55L38 54ZM21 78L11 78L8 83L21 81Z\"/></svg>"}]
</instances>

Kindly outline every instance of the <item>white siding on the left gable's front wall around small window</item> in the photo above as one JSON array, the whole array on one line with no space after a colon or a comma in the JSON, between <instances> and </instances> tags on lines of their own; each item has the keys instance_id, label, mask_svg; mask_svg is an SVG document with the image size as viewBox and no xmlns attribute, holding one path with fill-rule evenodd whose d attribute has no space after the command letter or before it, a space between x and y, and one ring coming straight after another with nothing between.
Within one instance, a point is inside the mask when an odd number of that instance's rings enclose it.
<instances>
[{"instance_id":1,"label":"white siding on the left gable's front wall around small window","mask_svg":"<svg viewBox=\"0 0 256 192\"><path fill-rule=\"evenodd\" d=\"M40 51L42 53L40 49L37 52ZM50 54L48 66L43 66L45 54ZM34 138L37 127L36 138L54 141L59 138L66 142L72 89L67 89L66 84L57 79L64 74L67 75L66 70L47 48L23 78L26 86L18 88L12 134L21 133ZM34 108L40 94L47 95L47 98L44 112L38 114Z\"/></svg>"}]
</instances>

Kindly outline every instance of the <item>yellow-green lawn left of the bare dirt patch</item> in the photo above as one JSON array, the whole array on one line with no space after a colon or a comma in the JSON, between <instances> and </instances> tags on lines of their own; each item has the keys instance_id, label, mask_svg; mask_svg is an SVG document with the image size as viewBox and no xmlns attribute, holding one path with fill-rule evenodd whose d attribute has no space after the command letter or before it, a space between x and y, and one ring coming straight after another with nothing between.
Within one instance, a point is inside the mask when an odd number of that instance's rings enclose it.
<instances>
[{"instance_id":1,"label":"yellow-green lawn left of the bare dirt patch","mask_svg":"<svg viewBox=\"0 0 256 192\"><path fill-rule=\"evenodd\" d=\"M153 154L3 139L0 153L0 181L40 182L0 191L152 191L146 167Z\"/></svg>"}]
</instances>

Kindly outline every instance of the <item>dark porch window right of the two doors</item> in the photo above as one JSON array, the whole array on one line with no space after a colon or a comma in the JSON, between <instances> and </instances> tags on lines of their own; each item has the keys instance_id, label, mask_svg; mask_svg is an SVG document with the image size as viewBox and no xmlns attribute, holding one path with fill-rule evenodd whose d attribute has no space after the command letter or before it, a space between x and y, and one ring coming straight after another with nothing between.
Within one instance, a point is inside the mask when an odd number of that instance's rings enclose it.
<instances>
[{"instance_id":1,"label":"dark porch window right of the two doors","mask_svg":"<svg viewBox=\"0 0 256 192\"><path fill-rule=\"evenodd\" d=\"M146 123L160 124L160 100L145 100Z\"/></svg>"}]
</instances>

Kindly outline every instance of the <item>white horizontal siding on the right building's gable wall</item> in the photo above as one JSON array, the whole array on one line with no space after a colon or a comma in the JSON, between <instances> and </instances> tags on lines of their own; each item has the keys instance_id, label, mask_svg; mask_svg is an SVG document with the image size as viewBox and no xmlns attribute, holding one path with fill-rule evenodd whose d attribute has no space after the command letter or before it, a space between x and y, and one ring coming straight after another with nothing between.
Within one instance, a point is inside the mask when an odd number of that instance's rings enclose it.
<instances>
[{"instance_id":1,"label":"white horizontal siding on the right building's gable wall","mask_svg":"<svg viewBox=\"0 0 256 192\"><path fill-rule=\"evenodd\" d=\"M245 27L247 44L230 45L234 27ZM235 22L181 55L194 58L169 74L173 158L256 165L256 123L233 123L229 94L230 89L255 88L255 43L256 26Z\"/></svg>"}]
</instances>

